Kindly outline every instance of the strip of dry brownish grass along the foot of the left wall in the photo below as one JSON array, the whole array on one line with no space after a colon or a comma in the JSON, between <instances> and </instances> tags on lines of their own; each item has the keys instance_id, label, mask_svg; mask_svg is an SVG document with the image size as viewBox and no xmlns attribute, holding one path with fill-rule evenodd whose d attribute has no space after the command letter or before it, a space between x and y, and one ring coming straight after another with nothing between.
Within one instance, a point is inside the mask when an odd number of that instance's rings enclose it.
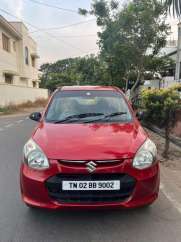
<instances>
[{"instance_id":1,"label":"strip of dry brownish grass along the foot of the left wall","mask_svg":"<svg viewBox=\"0 0 181 242\"><path fill-rule=\"evenodd\" d=\"M27 101L19 105L9 104L6 107L0 107L0 114L12 114L16 112L24 111L28 108L38 108L45 107L47 104L47 99L37 99L35 102Z\"/></svg>"}]
</instances>

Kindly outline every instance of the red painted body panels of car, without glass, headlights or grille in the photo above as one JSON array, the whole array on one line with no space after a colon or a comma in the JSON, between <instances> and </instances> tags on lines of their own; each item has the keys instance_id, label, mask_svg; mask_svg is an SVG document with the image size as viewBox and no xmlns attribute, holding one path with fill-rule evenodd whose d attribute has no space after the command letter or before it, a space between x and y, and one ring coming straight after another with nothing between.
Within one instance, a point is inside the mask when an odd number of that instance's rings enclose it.
<instances>
[{"instance_id":1,"label":"red painted body panels of car, without glass, headlights or grille","mask_svg":"<svg viewBox=\"0 0 181 242\"><path fill-rule=\"evenodd\" d=\"M58 91L77 90L111 90L120 92L114 87L63 87ZM57 91L56 91L57 92ZM54 96L54 95L53 95ZM53 98L52 96L52 98ZM50 98L49 103L51 103ZM124 97L125 98L125 97ZM126 98L125 98L126 100ZM72 123L54 124L42 120L34 130L32 139L44 151L49 159L50 168L34 170L22 163L20 172L21 192L24 202L31 206L64 209L64 208L134 208L152 203L159 192L159 164L144 170L135 169L132 160L140 146L148 138L139 121L126 100L133 120L128 123ZM116 160L115 163L98 164L94 174L126 174L135 179L134 190L123 201L101 202L59 202L48 192L46 182L57 174L90 175L85 164L64 163L63 160Z\"/></svg>"}]
</instances>

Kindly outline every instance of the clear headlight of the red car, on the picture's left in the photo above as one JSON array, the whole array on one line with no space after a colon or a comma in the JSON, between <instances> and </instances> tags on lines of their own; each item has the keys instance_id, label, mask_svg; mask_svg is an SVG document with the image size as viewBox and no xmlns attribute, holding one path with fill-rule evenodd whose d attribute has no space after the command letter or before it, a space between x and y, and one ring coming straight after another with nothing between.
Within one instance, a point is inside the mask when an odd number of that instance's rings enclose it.
<instances>
[{"instance_id":1,"label":"clear headlight of the red car, on the picture's left","mask_svg":"<svg viewBox=\"0 0 181 242\"><path fill-rule=\"evenodd\" d=\"M50 166L46 155L32 139L24 146L24 161L29 167L37 170L44 170Z\"/></svg>"}]
</instances>

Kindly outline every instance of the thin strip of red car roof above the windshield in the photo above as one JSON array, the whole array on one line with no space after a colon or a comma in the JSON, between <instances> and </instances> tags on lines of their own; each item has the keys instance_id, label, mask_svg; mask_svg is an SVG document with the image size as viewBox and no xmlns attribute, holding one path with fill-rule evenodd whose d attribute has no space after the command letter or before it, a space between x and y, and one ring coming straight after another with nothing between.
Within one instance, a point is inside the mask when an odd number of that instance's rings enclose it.
<instances>
[{"instance_id":1,"label":"thin strip of red car roof above the windshield","mask_svg":"<svg viewBox=\"0 0 181 242\"><path fill-rule=\"evenodd\" d=\"M113 86L63 86L61 91L120 91L118 87Z\"/></svg>"}]
</instances>

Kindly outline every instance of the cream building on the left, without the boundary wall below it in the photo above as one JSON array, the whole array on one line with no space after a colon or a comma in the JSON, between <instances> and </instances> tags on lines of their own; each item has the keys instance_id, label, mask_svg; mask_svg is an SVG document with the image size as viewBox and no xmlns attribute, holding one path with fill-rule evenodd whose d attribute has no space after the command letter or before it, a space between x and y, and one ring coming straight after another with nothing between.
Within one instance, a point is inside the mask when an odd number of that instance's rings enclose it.
<instances>
[{"instance_id":1,"label":"cream building on the left, without the boundary wall below it","mask_svg":"<svg viewBox=\"0 0 181 242\"><path fill-rule=\"evenodd\" d=\"M0 83L38 88L37 58L26 26L0 15Z\"/></svg>"}]
</instances>

